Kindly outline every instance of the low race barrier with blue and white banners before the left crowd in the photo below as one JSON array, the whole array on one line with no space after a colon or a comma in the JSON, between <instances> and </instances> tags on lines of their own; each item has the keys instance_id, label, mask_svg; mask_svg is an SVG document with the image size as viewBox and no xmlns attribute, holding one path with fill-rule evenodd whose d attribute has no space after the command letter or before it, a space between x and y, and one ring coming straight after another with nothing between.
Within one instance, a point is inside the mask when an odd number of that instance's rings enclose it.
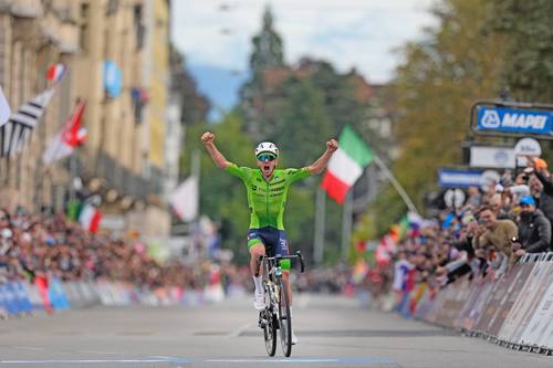
<instances>
[{"instance_id":1,"label":"low race barrier with blue and white banners before the left crowd","mask_svg":"<svg viewBox=\"0 0 553 368\"><path fill-rule=\"evenodd\" d=\"M0 284L0 317L53 313L92 305L106 306L200 306L219 302L222 287L209 285L205 290L181 287L145 288L108 281L61 282L56 277L36 277L33 283L15 281Z\"/></svg>"}]
</instances>

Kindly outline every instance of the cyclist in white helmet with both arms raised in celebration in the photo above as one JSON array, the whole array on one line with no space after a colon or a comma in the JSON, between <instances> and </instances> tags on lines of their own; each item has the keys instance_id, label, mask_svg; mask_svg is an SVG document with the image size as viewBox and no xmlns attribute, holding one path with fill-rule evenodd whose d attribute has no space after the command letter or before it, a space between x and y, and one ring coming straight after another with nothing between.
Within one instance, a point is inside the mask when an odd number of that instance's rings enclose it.
<instances>
[{"instance_id":1,"label":"cyclist in white helmet with both arms raised in celebration","mask_svg":"<svg viewBox=\"0 0 553 368\"><path fill-rule=\"evenodd\" d=\"M279 164L279 148L273 143L263 141L255 148L258 168L238 167L228 161L215 145L215 135L206 132L201 140L213 162L227 172L239 177L246 185L248 206L250 207L250 230L248 231L248 249L250 251L250 271L255 290L253 292L253 306L258 311L265 307L264 291L257 261L265 254L265 246L274 255L290 254L286 232L283 225L284 207L290 185L311 175L321 174L332 154L338 148L338 143L331 139L326 143L326 150L312 165L302 169L276 169ZM290 260L281 262L284 283L290 295L290 313L292 313L292 290L289 282ZM298 338L292 332L292 344Z\"/></svg>"}]
</instances>

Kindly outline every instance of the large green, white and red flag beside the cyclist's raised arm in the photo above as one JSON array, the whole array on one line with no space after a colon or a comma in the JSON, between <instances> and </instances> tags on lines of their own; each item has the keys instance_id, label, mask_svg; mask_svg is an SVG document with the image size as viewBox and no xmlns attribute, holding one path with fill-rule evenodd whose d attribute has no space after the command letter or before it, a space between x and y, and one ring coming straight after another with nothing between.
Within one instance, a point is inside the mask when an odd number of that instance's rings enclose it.
<instances>
[{"instance_id":1,"label":"large green, white and red flag beside the cyclist's raised arm","mask_svg":"<svg viewBox=\"0 0 553 368\"><path fill-rule=\"evenodd\" d=\"M365 166L373 160L373 151L345 126L340 135L340 148L332 155L321 187L338 203L344 203L347 191L363 175Z\"/></svg>"}]
</instances>

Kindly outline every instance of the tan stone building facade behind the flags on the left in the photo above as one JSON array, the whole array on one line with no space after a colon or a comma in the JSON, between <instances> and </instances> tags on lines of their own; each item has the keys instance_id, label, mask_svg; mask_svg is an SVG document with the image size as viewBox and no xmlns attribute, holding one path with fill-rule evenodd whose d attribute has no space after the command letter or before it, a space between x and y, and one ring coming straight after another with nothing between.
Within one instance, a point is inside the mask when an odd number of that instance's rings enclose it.
<instances>
[{"instance_id":1,"label":"tan stone building facade behind the flags on the left","mask_svg":"<svg viewBox=\"0 0 553 368\"><path fill-rule=\"evenodd\" d=\"M86 196L102 198L106 229L168 233L169 20L167 0L0 0L0 85L12 109L46 86L48 65L67 66L31 143L0 164L3 206L61 209L79 177ZM86 143L41 167L77 98L86 101Z\"/></svg>"}]
</instances>

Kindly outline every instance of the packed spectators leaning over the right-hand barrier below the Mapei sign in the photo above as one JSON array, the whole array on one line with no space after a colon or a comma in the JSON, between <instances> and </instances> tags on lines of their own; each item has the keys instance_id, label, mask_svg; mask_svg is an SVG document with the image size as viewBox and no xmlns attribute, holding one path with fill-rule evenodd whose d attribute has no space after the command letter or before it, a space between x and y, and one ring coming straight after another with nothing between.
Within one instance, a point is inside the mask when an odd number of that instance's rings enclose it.
<instances>
[{"instance_id":1,"label":"packed spectators leaning over the right-hand barrier below the Mapei sign","mask_svg":"<svg viewBox=\"0 0 553 368\"><path fill-rule=\"evenodd\" d=\"M459 277L497 280L529 253L552 251L553 177L543 159L471 187L459 208L414 224L387 273L397 303L417 285L439 290Z\"/></svg>"}]
</instances>

